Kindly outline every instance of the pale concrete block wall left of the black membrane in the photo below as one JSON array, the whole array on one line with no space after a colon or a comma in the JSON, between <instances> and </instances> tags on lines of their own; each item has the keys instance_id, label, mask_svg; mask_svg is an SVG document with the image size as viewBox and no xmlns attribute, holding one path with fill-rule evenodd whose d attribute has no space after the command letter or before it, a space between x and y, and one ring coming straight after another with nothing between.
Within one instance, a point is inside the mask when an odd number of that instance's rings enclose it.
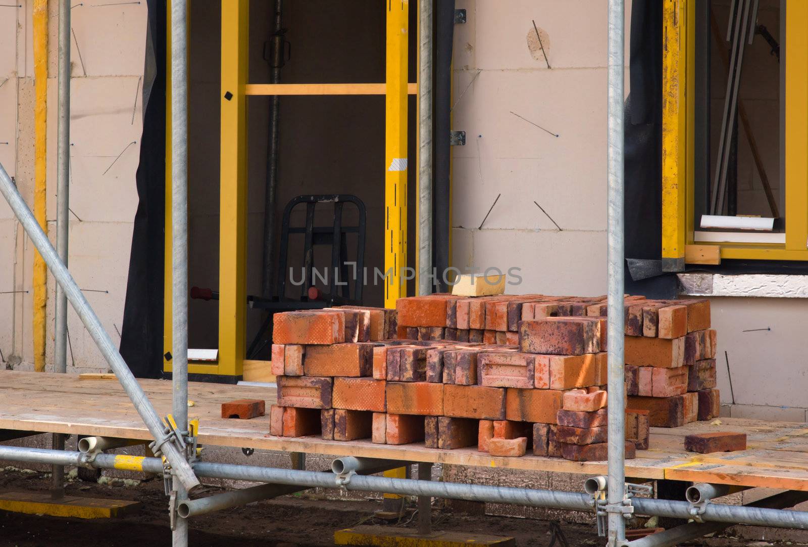
<instances>
[{"instance_id":1,"label":"pale concrete block wall left of the black membrane","mask_svg":"<svg viewBox=\"0 0 808 547\"><path fill-rule=\"evenodd\" d=\"M0 8L0 162L29 206L34 189L32 0ZM137 210L145 58L145 3L74 6L71 39L69 267L102 323L118 336ZM58 3L48 3L48 234L56 230ZM7 78L7 79L6 79ZM114 163L114 164L113 164ZM0 351L6 366L31 370L33 246L0 203ZM48 369L53 367L55 282L48 274ZM16 292L20 291L20 292ZM27 292L26 292L27 291ZM72 309L68 370L106 371Z\"/></svg>"}]
</instances>

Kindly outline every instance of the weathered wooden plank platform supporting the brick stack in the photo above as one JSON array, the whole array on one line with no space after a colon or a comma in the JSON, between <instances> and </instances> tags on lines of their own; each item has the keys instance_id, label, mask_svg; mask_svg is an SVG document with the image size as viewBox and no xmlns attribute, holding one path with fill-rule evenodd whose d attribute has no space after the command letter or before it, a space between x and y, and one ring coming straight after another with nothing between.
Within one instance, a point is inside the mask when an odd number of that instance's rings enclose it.
<instances>
[{"instance_id":1,"label":"weathered wooden plank platform supporting the brick stack","mask_svg":"<svg viewBox=\"0 0 808 547\"><path fill-rule=\"evenodd\" d=\"M170 412L171 384L140 380L155 409ZM561 473L606 473L605 462L578 463L558 458L492 457L472 448L441 450L423 443L388 446L370 440L342 443L314 437L289 439L269 435L269 417L222 419L221 403L232 399L276 401L272 388L225 384L188 385L200 419L200 443L251 447L333 456L364 456L390 460L430 461ZM765 486L808 491L808 423L721 418L720 424L696 422L675 429L651 428L650 450L627 460L627 477L705 481L738 486ZM117 382L79 380L75 375L0 371L0 429L107 435L150 439L148 430ZM743 452L696 454L684 451L684 436L693 432L739 431L747 434Z\"/></svg>"}]
</instances>

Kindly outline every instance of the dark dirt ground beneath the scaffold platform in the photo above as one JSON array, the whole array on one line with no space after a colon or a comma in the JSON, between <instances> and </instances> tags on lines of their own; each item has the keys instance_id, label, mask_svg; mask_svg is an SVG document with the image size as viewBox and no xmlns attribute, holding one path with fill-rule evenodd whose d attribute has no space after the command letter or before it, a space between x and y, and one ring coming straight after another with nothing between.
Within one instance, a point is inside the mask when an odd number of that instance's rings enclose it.
<instances>
[{"instance_id":1,"label":"dark dirt ground beneath the scaffold platform","mask_svg":"<svg viewBox=\"0 0 808 547\"><path fill-rule=\"evenodd\" d=\"M2 490L47 491L49 478L45 473L6 471L0 473ZM37 515L19 515L0 511L0 545L18 547L85 547L88 541L103 538L103 545L170 545L167 498L162 481L139 484L114 480L110 484L69 481L67 494L95 498L116 498L142 502L139 511L120 519L65 519ZM215 494L208 488L202 495ZM257 502L246 507L219 511L191 519L190 545L221 545L223 547L252 545L294 547L295 545L333 545L333 533L356 524L387 524L375 519L373 511L381 508L377 499L359 501L305 497L304 494ZM411 518L410 518L411 517ZM393 523L415 528L417 516ZM452 512L440 500L433 508L433 529L480 532L498 536L514 536L520 547L546 547L552 536L550 523L532 519L514 519L489 515L466 515ZM409 522L408 522L409 521ZM570 547L604 545L590 526L561 524ZM88 540L88 538L95 538ZM555 545L562 545L556 543ZM688 545L709 547L739 547L741 545L772 545L769 543L713 538ZM786 544L783 544L786 545ZM796 544L788 544L796 545Z\"/></svg>"}]
</instances>

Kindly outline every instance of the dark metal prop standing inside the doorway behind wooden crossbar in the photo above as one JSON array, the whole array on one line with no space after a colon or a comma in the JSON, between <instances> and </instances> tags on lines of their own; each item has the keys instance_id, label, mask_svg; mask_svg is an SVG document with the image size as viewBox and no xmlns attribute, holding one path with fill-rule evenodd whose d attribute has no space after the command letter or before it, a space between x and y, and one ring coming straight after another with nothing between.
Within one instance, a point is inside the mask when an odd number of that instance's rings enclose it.
<instances>
[{"instance_id":1,"label":"dark metal prop standing inside the doorway behind wooden crossbar","mask_svg":"<svg viewBox=\"0 0 808 547\"><path fill-rule=\"evenodd\" d=\"M283 0L275 0L272 8L273 32L270 38L270 83L280 83L280 69L284 66ZM263 272L264 298L271 298L272 272L275 263L275 210L278 187L278 156L280 153L280 95L269 98L269 137L267 139L267 184L263 200ZM269 312L267 312L269 313Z\"/></svg>"}]
</instances>

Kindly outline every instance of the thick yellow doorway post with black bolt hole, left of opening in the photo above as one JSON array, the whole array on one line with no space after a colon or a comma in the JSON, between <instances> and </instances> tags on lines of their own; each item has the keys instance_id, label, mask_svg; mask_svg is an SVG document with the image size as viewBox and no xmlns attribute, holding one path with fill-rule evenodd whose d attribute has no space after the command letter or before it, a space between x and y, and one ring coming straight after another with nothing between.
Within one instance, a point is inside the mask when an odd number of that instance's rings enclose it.
<instances>
[{"instance_id":1,"label":"thick yellow doorway post with black bolt hole, left of opening","mask_svg":"<svg viewBox=\"0 0 808 547\"><path fill-rule=\"evenodd\" d=\"M246 81L249 0L221 2L220 375L242 375L246 324Z\"/></svg>"}]
</instances>

